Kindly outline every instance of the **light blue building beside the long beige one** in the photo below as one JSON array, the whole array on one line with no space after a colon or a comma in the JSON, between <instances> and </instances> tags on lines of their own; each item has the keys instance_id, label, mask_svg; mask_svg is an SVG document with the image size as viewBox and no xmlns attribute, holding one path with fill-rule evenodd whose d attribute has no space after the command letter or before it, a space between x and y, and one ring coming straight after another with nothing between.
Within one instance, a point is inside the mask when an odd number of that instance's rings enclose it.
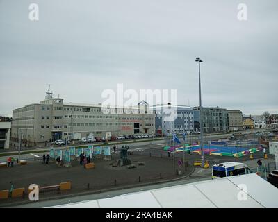
<instances>
[{"instance_id":1,"label":"light blue building beside the long beige one","mask_svg":"<svg viewBox=\"0 0 278 222\"><path fill-rule=\"evenodd\" d=\"M155 105L156 135L191 133L194 128L195 110L186 105Z\"/></svg>"}]
</instances>

